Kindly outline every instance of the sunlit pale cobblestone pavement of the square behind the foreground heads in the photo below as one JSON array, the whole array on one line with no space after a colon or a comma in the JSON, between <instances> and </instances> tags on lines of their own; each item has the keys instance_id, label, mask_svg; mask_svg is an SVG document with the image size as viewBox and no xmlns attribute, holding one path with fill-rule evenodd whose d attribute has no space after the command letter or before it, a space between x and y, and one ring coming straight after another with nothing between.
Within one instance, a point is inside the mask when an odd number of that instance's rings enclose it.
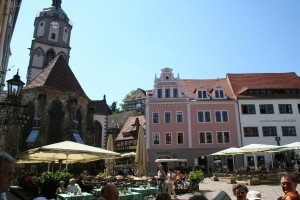
<instances>
[{"instance_id":1,"label":"sunlit pale cobblestone pavement of the square behind the foreground heads","mask_svg":"<svg viewBox=\"0 0 300 200\"><path fill-rule=\"evenodd\" d=\"M213 199L220 191L226 192L232 200L236 199L232 194L232 184L228 184L222 181L211 181L209 178L205 178L203 183L200 183L200 193L205 195L207 199ZM262 194L263 200L277 200L283 192L279 184L273 185L253 185L247 186L249 190L257 190ZM199 193L199 192L198 192ZM178 195L179 200L188 200L193 194ZM154 200L152 198L151 200Z\"/></svg>"}]
</instances>

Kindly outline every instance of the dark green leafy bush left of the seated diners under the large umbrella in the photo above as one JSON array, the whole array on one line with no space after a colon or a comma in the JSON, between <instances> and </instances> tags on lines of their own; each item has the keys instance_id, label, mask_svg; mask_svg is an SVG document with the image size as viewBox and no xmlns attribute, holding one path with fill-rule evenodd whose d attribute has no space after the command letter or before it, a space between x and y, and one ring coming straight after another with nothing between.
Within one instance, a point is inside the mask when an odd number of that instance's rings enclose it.
<instances>
[{"instance_id":1,"label":"dark green leafy bush left of the seated diners under the large umbrella","mask_svg":"<svg viewBox=\"0 0 300 200\"><path fill-rule=\"evenodd\" d=\"M64 181L66 184L73 177L67 170L58 170L56 172L44 172L38 178L39 193L46 198L54 198L56 188L59 186L59 181Z\"/></svg>"}]
</instances>

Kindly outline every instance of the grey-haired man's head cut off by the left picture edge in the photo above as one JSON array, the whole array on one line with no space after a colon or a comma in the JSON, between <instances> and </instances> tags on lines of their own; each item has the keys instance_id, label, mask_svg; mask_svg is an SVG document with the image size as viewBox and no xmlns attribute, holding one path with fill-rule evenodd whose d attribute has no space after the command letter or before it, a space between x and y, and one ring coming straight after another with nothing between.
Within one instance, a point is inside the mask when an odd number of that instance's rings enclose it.
<instances>
[{"instance_id":1,"label":"grey-haired man's head cut off by the left picture edge","mask_svg":"<svg viewBox=\"0 0 300 200\"><path fill-rule=\"evenodd\" d=\"M15 159L8 153L0 152L0 199L7 200L6 193L15 177Z\"/></svg>"}]
</instances>

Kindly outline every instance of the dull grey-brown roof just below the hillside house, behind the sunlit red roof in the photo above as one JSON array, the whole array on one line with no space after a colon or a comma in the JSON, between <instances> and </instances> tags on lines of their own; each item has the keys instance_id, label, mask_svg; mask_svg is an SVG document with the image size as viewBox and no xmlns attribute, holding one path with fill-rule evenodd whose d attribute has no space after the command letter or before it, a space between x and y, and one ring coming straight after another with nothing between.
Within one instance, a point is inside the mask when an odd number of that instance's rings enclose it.
<instances>
[{"instance_id":1,"label":"dull grey-brown roof just below the hillside house, behind the sunlit red roof","mask_svg":"<svg viewBox=\"0 0 300 200\"><path fill-rule=\"evenodd\" d=\"M113 114L108 116L107 128L120 128L122 129L127 119L136 116L138 113L135 110Z\"/></svg>"}]
</instances>

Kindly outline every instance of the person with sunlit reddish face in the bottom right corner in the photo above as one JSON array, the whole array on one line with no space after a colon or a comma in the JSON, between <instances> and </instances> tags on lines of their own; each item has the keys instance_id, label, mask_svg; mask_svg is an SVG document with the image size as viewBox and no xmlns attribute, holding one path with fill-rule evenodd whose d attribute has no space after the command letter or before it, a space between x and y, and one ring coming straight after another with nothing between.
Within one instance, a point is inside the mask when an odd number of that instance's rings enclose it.
<instances>
[{"instance_id":1,"label":"person with sunlit reddish face in the bottom right corner","mask_svg":"<svg viewBox=\"0 0 300 200\"><path fill-rule=\"evenodd\" d=\"M279 197L278 200L300 200L300 195L297 192L297 176L295 174L283 175L280 179L280 186L284 192L284 196Z\"/></svg>"}]
</instances>

